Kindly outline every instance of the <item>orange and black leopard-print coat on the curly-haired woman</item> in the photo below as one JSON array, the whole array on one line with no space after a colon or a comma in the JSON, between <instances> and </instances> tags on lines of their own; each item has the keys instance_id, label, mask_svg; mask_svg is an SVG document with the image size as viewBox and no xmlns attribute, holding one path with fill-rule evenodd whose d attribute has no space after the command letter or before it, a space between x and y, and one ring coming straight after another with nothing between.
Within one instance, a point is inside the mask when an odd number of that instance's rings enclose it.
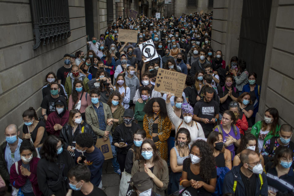
<instances>
[{"instance_id":1,"label":"orange and black leopard-print coat on the curly-haired woman","mask_svg":"<svg viewBox=\"0 0 294 196\"><path fill-rule=\"evenodd\" d=\"M154 123L154 117L148 116L147 114L144 115L143 119L143 129L146 132L147 138L152 139L152 126ZM165 118L161 118L159 115L158 118L158 138L159 140L155 142L156 147L158 147L157 151L160 157L164 160L168 160L168 142L167 139L169 138L171 133L171 121L169 120L168 116Z\"/></svg>"}]
</instances>

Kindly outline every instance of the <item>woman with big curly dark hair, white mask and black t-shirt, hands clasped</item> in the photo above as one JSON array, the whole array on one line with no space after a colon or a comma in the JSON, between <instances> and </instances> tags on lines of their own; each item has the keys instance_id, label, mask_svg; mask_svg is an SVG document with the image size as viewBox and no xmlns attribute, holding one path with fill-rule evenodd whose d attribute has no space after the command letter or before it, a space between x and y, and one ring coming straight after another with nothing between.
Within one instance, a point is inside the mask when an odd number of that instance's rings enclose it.
<instances>
[{"instance_id":1,"label":"woman with big curly dark hair, white mask and black t-shirt, hands clasped","mask_svg":"<svg viewBox=\"0 0 294 196\"><path fill-rule=\"evenodd\" d=\"M190 158L183 162L180 184L193 187L198 196L211 195L215 191L217 170L210 146L204 140L197 140L191 146Z\"/></svg>"}]
</instances>

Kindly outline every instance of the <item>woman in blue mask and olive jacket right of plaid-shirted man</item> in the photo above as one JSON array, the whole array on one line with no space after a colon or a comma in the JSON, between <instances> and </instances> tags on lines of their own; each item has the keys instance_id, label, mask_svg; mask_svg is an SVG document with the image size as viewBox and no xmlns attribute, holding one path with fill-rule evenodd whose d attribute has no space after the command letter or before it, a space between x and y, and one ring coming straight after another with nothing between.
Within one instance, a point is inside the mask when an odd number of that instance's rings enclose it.
<instances>
[{"instance_id":1,"label":"woman in blue mask and olive jacket right of plaid-shirted man","mask_svg":"<svg viewBox=\"0 0 294 196\"><path fill-rule=\"evenodd\" d=\"M113 92L108 99L107 104L109 105L112 113L111 123L113 124L111 130L114 131L115 127L123 123L123 113L125 108L121 105L123 99L119 92Z\"/></svg>"}]
</instances>

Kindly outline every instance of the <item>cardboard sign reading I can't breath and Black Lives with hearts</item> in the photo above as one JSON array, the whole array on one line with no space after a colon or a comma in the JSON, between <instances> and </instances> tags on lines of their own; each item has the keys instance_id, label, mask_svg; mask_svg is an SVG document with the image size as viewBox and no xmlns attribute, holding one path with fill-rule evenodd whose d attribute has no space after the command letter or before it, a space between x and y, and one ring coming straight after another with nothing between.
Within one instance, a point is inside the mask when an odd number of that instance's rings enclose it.
<instances>
[{"instance_id":1,"label":"cardboard sign reading I can't breath and Black Lives with hearts","mask_svg":"<svg viewBox=\"0 0 294 196\"><path fill-rule=\"evenodd\" d=\"M166 94L171 92L171 95L182 97L186 77L186 74L159 68L156 76L154 90Z\"/></svg>"}]
</instances>

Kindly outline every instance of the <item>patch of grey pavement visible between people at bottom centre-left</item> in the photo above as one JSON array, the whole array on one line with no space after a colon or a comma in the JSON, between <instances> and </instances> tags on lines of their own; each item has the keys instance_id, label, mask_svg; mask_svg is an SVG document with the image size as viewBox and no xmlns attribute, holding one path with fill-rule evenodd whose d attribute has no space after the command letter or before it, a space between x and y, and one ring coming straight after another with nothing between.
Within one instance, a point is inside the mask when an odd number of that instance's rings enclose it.
<instances>
[{"instance_id":1,"label":"patch of grey pavement visible between people at bottom centre-left","mask_svg":"<svg viewBox=\"0 0 294 196\"><path fill-rule=\"evenodd\" d=\"M107 196L118 196L119 182L119 175L114 173L114 169L111 167L111 159L105 160L102 167L102 190Z\"/></svg>"}]
</instances>

